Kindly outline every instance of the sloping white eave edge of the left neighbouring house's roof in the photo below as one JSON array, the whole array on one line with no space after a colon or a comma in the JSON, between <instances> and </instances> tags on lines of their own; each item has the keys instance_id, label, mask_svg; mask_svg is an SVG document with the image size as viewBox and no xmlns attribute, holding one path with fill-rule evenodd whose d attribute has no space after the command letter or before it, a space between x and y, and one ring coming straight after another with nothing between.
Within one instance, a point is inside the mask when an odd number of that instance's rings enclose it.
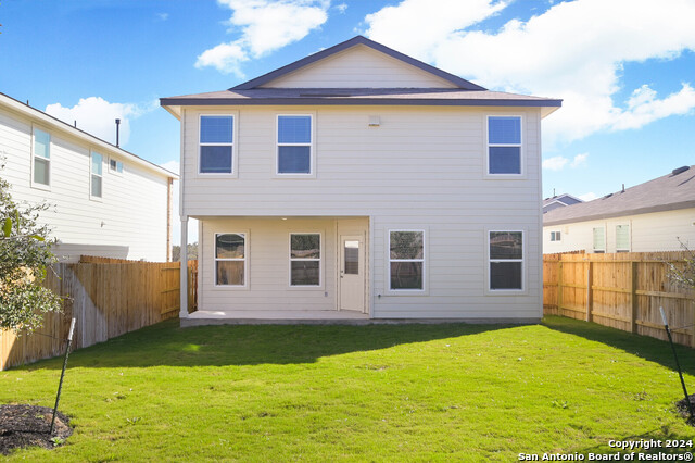
<instances>
[{"instance_id":1,"label":"sloping white eave edge of the left neighbouring house's roof","mask_svg":"<svg viewBox=\"0 0 695 463\"><path fill-rule=\"evenodd\" d=\"M29 107L26 103L23 103L20 100L15 100L14 98L0 92L0 108L7 108L23 114L24 116L39 121L47 127L54 128L56 130L61 130L70 134L73 137L76 137L91 146L98 147L100 149L106 150L112 154L119 154L124 160L132 161L134 163L141 165L150 171L156 172L160 175L164 175L169 178L178 179L178 175L175 173L167 171L166 168L156 165L146 159L142 159L129 151L124 150L123 148L116 147L108 141L102 140L101 138L94 137L93 135L81 130L77 127L74 127L56 117L53 117L50 114L45 113L41 110L37 110L36 108Z\"/></svg>"}]
</instances>

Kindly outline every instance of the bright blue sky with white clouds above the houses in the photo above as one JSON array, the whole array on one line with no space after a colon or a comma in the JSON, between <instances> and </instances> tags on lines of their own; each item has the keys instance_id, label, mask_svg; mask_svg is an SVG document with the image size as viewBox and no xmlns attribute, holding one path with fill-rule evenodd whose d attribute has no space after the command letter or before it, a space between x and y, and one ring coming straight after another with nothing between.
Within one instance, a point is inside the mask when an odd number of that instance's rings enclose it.
<instances>
[{"instance_id":1,"label":"bright blue sky with white clouds above the houses","mask_svg":"<svg viewBox=\"0 0 695 463\"><path fill-rule=\"evenodd\" d=\"M563 98L543 192L593 198L693 164L695 2L0 0L0 91L175 167L157 99L214 91L357 34L483 87Z\"/></svg>"}]
</instances>

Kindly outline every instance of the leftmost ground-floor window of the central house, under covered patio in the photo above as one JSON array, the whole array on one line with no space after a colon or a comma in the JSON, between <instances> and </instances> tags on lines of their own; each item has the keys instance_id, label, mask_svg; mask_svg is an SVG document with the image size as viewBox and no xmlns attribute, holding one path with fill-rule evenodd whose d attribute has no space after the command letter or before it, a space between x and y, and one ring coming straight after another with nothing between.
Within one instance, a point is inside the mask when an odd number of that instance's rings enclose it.
<instances>
[{"instance_id":1,"label":"leftmost ground-floor window of the central house, under covered patio","mask_svg":"<svg viewBox=\"0 0 695 463\"><path fill-rule=\"evenodd\" d=\"M247 285L247 234L215 234L215 285Z\"/></svg>"}]
</instances>

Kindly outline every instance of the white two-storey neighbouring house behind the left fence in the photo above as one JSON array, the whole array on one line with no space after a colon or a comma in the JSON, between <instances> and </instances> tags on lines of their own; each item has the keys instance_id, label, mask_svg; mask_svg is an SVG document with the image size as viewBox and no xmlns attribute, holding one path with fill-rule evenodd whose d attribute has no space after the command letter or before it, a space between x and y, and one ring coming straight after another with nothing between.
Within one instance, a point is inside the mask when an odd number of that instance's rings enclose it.
<instances>
[{"instance_id":1,"label":"white two-storey neighbouring house behind the left fence","mask_svg":"<svg viewBox=\"0 0 695 463\"><path fill-rule=\"evenodd\" d=\"M0 157L15 201L52 205L42 220L62 261L170 256L177 175L3 93Z\"/></svg>"}]
</instances>

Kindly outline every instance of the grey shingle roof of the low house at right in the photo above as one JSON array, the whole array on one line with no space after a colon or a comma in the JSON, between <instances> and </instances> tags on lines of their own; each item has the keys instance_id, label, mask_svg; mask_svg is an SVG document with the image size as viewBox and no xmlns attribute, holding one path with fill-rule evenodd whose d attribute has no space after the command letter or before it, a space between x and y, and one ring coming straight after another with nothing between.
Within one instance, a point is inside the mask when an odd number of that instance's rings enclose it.
<instances>
[{"instance_id":1,"label":"grey shingle roof of the low house at right","mask_svg":"<svg viewBox=\"0 0 695 463\"><path fill-rule=\"evenodd\" d=\"M543 215L543 225L561 225L687 208L695 208L695 165L677 168L668 175L593 201L554 209Z\"/></svg>"}]
</instances>

